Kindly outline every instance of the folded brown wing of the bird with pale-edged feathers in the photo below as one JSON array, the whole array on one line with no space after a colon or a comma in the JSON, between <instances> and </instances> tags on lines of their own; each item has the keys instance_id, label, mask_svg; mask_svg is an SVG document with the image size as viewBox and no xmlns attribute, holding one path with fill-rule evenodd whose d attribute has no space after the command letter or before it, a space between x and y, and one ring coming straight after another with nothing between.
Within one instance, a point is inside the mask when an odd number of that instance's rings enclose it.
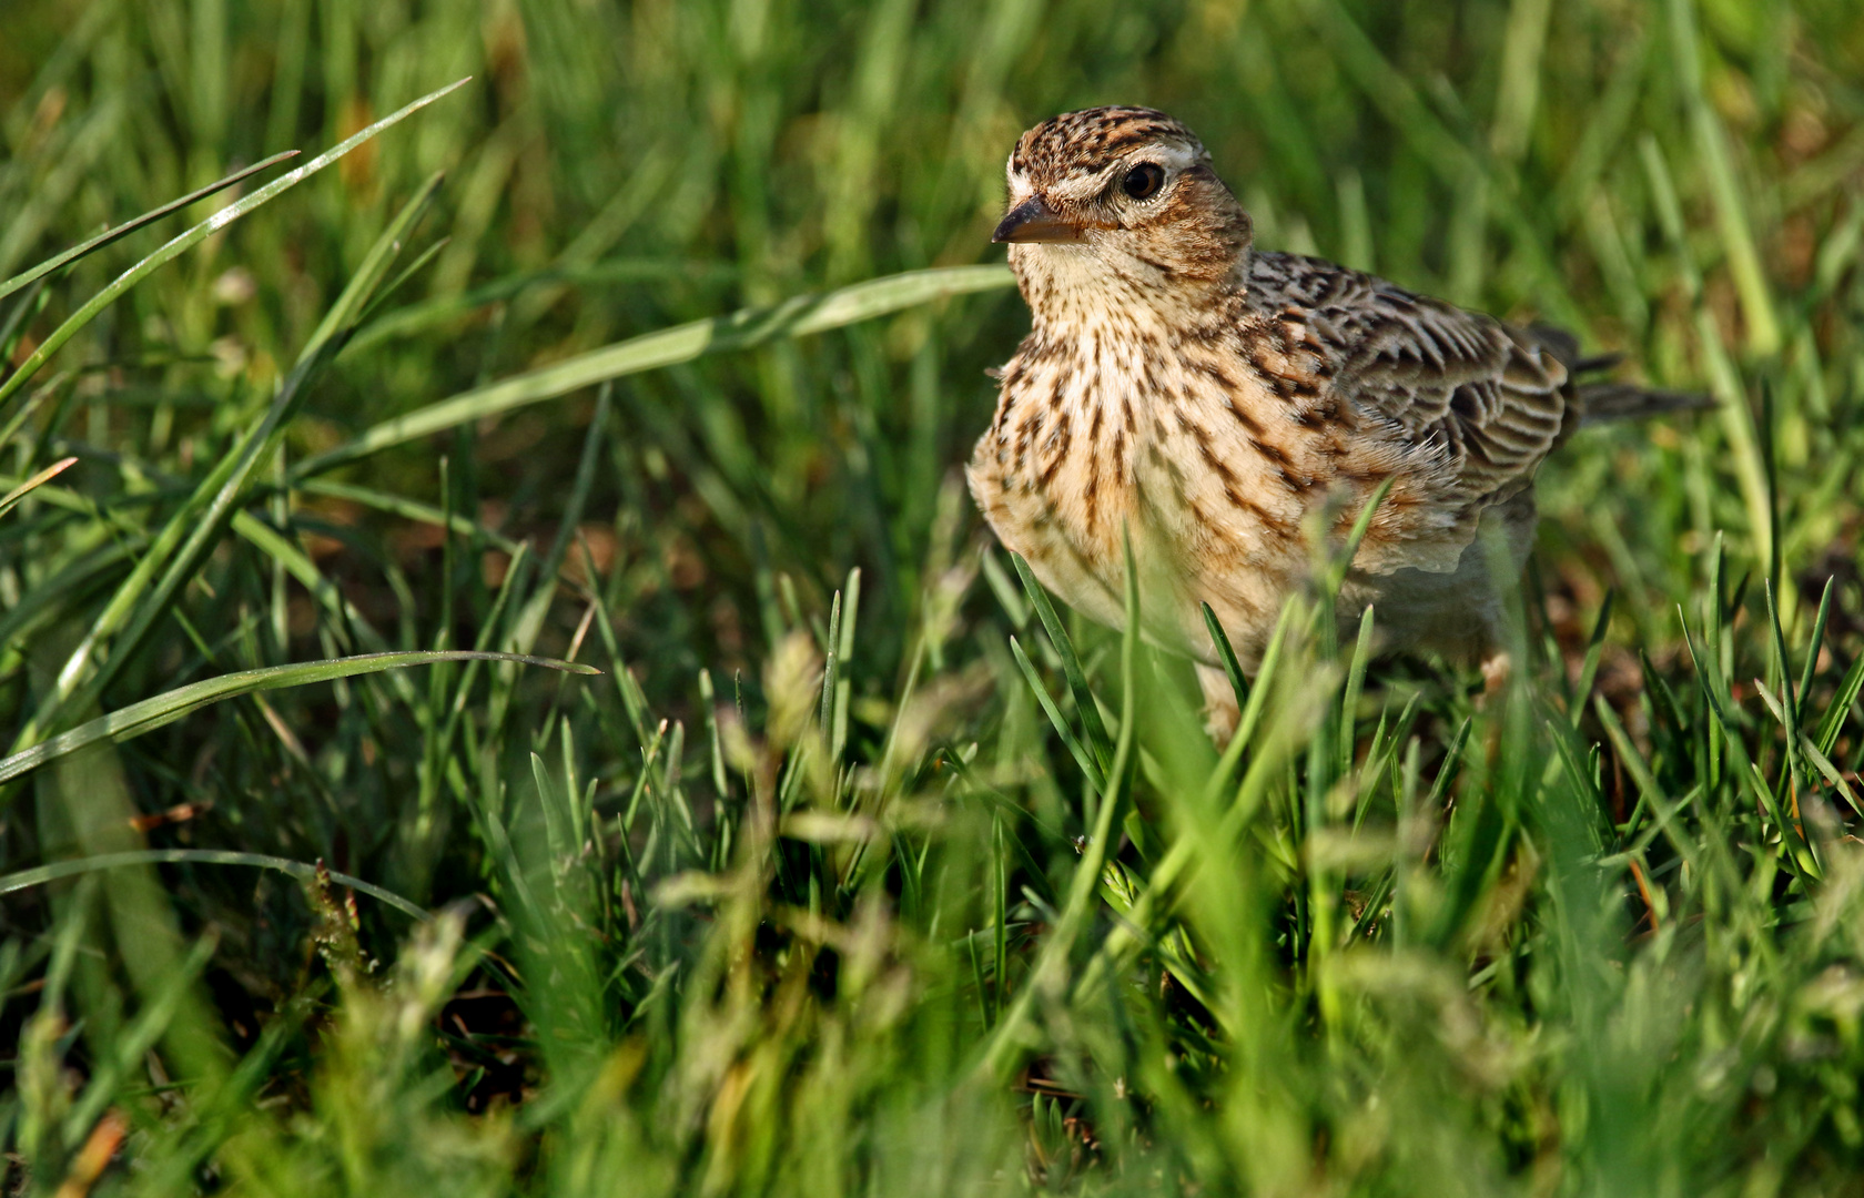
<instances>
[{"instance_id":1,"label":"folded brown wing of the bird with pale-edged feathers","mask_svg":"<svg viewBox=\"0 0 1864 1198\"><path fill-rule=\"evenodd\" d=\"M1318 402L1394 477L1363 568L1454 568L1482 511L1532 484L1571 423L1564 334L1295 255L1256 255L1251 293L1286 352L1327 380Z\"/></svg>"}]
</instances>

